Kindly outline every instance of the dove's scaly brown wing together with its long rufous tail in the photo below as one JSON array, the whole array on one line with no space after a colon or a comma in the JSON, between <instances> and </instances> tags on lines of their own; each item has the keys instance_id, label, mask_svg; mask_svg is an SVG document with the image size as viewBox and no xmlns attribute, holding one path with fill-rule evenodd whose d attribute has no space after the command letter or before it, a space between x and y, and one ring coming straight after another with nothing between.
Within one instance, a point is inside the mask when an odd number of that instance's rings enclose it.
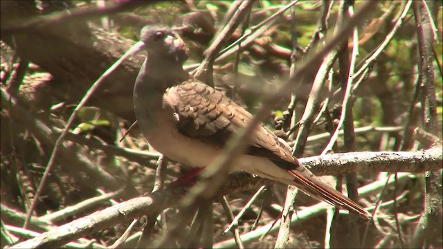
<instances>
[{"instance_id":1,"label":"dove's scaly brown wing together with its long rufous tail","mask_svg":"<svg viewBox=\"0 0 443 249\"><path fill-rule=\"evenodd\" d=\"M164 104L174 108L177 128L181 133L220 147L237 129L246 127L252 118L251 113L223 93L193 79L168 89L163 100ZM275 165L287 170L293 176L293 182L289 184L303 192L362 216L370 216L361 206L300 165L287 144L261 124L257 125L250 138L247 153L269 158Z\"/></svg>"}]
</instances>

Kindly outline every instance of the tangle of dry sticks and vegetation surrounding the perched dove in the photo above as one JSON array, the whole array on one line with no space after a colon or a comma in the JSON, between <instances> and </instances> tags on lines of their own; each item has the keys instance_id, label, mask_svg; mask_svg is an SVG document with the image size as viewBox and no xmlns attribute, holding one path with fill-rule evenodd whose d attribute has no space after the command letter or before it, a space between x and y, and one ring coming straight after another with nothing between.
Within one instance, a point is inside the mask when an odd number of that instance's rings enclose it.
<instances>
[{"instance_id":1,"label":"tangle of dry sticks and vegetation surrounding the perched dove","mask_svg":"<svg viewBox=\"0 0 443 249\"><path fill-rule=\"evenodd\" d=\"M300 1L274 15L290 3L1 1L1 247L441 248L441 1L373 1L363 12L369 1ZM244 173L214 198L169 185L188 167L159 160L138 127L123 138L145 55L102 82L55 146L93 82L159 23L179 28L190 71L204 62L193 73L265 113L374 219L302 193L292 205L287 186Z\"/></svg>"}]
</instances>

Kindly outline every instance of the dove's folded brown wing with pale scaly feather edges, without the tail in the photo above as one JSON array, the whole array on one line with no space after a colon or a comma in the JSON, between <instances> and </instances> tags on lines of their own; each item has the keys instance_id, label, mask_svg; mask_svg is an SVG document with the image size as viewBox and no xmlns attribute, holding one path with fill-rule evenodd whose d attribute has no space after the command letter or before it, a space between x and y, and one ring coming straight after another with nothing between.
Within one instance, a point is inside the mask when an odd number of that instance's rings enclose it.
<instances>
[{"instance_id":1,"label":"dove's folded brown wing with pale scaly feather edges, without the tail","mask_svg":"<svg viewBox=\"0 0 443 249\"><path fill-rule=\"evenodd\" d=\"M172 100L181 133L221 147L252 118L251 113L223 93L196 80L169 89L165 99ZM298 165L290 148L266 127L257 125L250 140L248 154Z\"/></svg>"}]
</instances>

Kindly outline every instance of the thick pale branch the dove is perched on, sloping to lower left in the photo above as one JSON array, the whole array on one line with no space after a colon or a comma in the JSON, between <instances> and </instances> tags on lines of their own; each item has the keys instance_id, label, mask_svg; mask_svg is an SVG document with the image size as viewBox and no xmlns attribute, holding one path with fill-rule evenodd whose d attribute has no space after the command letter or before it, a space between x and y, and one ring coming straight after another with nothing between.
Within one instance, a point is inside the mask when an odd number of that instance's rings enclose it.
<instances>
[{"instance_id":1,"label":"thick pale branch the dove is perched on, sloping to lower left","mask_svg":"<svg viewBox=\"0 0 443 249\"><path fill-rule=\"evenodd\" d=\"M417 158L419 158L419 160L417 160ZM338 174L338 172L344 173L351 172L352 170L358 172L384 172L389 171L391 168L392 172L424 172L426 170L441 169L442 162L443 155L441 147L427 149L426 151L354 152L332 154L321 157L314 156L311 158L300 158L300 163L309 167L311 172L316 175ZM334 166L332 166L333 163ZM323 169L323 167L325 167L325 169ZM336 167L343 167L347 171L336 170ZM398 181L404 181L404 176L406 175L408 174L399 174ZM262 185L269 185L271 183L273 183L273 181L254 177L251 176L251 174L243 172L230 174L228 181L217 194L220 196L232 194L233 192L256 189ZM379 182L374 184L380 185ZM367 196L373 192L372 190L368 190L371 186L374 187L371 183L370 185L359 189L361 197ZM183 185L168 187L168 189L159 190L158 192L154 192L147 196L137 197L110 208L106 208L105 210L94 212L89 216L84 216L71 223L53 228L38 237L11 246L11 248L60 247L73 239L78 239L87 234L109 228L110 226L121 223L127 219L133 219L134 217L141 215L154 214L165 208L178 205L181 196L188 191L188 187ZM316 207L329 208L330 205L327 203L319 203ZM321 210L314 211L316 214L320 212ZM302 210L302 214L311 214L311 210L306 210L306 212L305 210ZM298 212L298 216L300 216L300 219L307 218L303 218L300 212ZM271 225L267 226L266 230L270 227ZM259 228L259 230L260 229L261 228Z\"/></svg>"}]
</instances>

